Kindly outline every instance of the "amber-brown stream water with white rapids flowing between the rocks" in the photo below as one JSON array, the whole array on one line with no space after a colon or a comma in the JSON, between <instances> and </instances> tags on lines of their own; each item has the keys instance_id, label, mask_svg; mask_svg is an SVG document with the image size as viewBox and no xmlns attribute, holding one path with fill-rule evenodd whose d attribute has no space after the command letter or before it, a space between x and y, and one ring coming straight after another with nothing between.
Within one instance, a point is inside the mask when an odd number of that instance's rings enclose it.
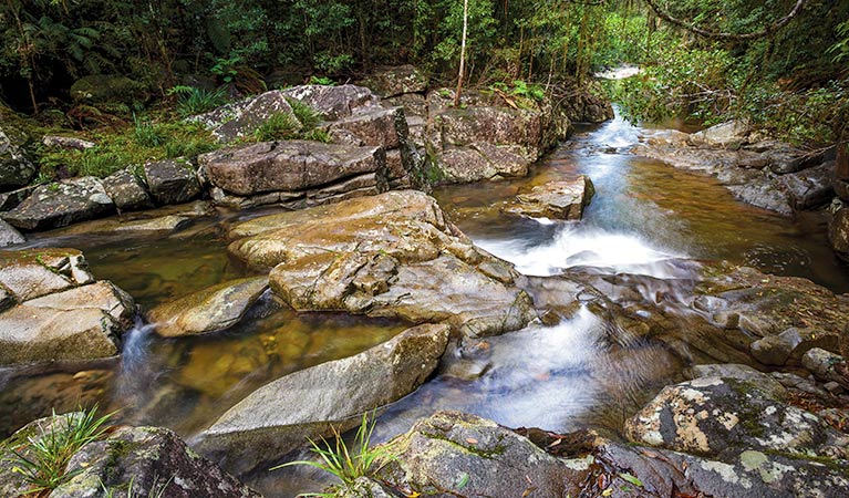
<instances>
[{"instance_id":1,"label":"amber-brown stream water with white rapids flowing between the rocks","mask_svg":"<svg viewBox=\"0 0 849 498\"><path fill-rule=\"evenodd\" d=\"M525 179L452 186L435 196L477 245L528 276L570 268L658 279L680 274L682 259L726 259L765 272L809 278L849 291L849 271L828 249L825 221L796 220L742 203L714 179L632 156L652 129L617 117L579 131ZM597 195L580 222L507 216L497 205L550 180L588 175ZM495 206L495 207L494 207ZM249 274L227 257L220 227L240 214L206 218L172 236L46 236L35 245L82 249L92 272L130 292L144 308ZM106 401L133 423L191 436L253 388L287 373L349 356L386 341L403 323L333 313L296 313L267 294L249 320L221 333L162 339L139 322L120 361L84 372L52 365L0 371L0 421L10 430L49 411L56 398ZM441 374L380 417L379 439L406 430L435 409L454 408L507 426L617 432L634 407L683 362L666 347L635 340L586 308L557 325L479 341L472 360ZM446 362L449 365L452 362ZM266 496L320 487L320 481L258 477ZM269 480L270 479L270 480Z\"/></svg>"}]
</instances>

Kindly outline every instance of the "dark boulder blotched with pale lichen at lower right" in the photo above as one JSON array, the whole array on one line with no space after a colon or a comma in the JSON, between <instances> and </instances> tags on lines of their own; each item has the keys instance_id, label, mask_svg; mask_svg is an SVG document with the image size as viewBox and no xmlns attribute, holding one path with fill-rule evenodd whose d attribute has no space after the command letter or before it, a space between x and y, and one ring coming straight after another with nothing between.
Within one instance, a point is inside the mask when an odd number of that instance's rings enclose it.
<instances>
[{"instance_id":1,"label":"dark boulder blotched with pale lichen at lower right","mask_svg":"<svg viewBox=\"0 0 849 498\"><path fill-rule=\"evenodd\" d=\"M665 387L625 423L629 439L734 460L741 450L845 457L849 437L757 382L706 376Z\"/></svg>"}]
</instances>

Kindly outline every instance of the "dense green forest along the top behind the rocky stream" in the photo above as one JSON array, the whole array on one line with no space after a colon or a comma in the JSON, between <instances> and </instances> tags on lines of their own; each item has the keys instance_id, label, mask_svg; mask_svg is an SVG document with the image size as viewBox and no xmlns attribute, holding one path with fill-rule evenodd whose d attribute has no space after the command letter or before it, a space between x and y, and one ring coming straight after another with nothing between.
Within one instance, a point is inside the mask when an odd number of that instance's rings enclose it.
<instances>
[{"instance_id":1,"label":"dense green forest along the top behind the rocky stream","mask_svg":"<svg viewBox=\"0 0 849 498\"><path fill-rule=\"evenodd\" d=\"M633 118L684 114L713 122L743 113L798 141L841 133L834 122L845 112L835 102L846 101L848 2L468 4L472 84L581 81L632 63L645 69L642 76L612 92ZM401 63L449 83L462 25L458 0L3 0L0 98L24 112L66 110L76 80L120 74L144 89L130 103L138 110L178 85L250 94L310 77L351 81ZM799 114L800 105L812 111Z\"/></svg>"}]
</instances>

